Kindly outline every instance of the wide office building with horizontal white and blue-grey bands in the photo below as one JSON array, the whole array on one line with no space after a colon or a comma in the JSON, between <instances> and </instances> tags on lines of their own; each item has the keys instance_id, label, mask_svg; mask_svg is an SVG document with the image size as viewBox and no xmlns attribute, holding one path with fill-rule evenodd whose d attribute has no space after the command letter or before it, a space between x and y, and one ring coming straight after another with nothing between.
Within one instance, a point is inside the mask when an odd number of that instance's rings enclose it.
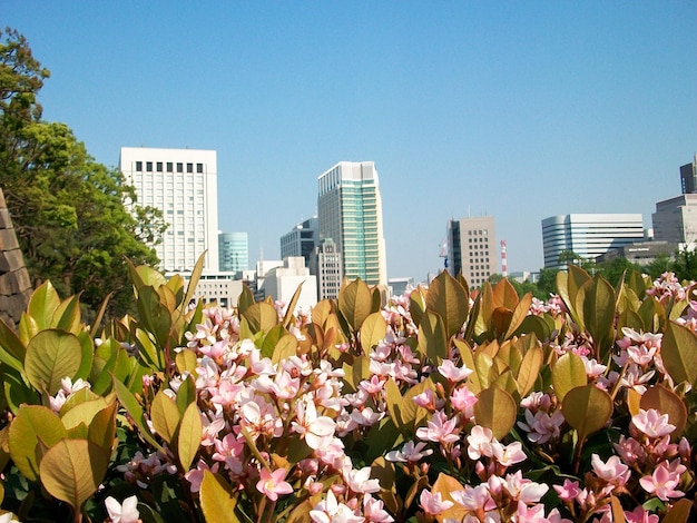
<instances>
[{"instance_id":1,"label":"wide office building with horizontal white and blue-grey bands","mask_svg":"<svg viewBox=\"0 0 697 523\"><path fill-rule=\"evenodd\" d=\"M563 269L561 253L573 253L595 260L610 249L644 239L640 214L559 215L542 220L544 268Z\"/></svg>"}]
</instances>

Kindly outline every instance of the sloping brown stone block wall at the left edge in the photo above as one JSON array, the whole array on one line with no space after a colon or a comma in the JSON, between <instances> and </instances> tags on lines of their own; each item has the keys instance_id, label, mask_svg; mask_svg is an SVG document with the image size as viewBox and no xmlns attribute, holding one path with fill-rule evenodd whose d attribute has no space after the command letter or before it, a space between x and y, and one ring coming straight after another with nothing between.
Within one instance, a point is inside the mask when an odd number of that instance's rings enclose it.
<instances>
[{"instance_id":1,"label":"sloping brown stone block wall at the left edge","mask_svg":"<svg viewBox=\"0 0 697 523\"><path fill-rule=\"evenodd\" d=\"M31 296L31 280L19 249L12 219L0 189L0 318L16 328L27 310Z\"/></svg>"}]
</instances>

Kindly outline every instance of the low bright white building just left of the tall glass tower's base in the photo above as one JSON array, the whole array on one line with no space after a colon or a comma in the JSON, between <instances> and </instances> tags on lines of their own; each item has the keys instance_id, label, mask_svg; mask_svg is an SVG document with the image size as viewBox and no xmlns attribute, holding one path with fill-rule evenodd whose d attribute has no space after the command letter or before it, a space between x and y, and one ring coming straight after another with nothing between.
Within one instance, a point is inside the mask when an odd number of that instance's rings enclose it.
<instances>
[{"instance_id":1,"label":"low bright white building just left of the tall glass tower's base","mask_svg":"<svg viewBox=\"0 0 697 523\"><path fill-rule=\"evenodd\" d=\"M296 308L310 312L317 304L316 282L305 267L305 259L302 256L293 256L285 258L282 266L274 267L265 274L264 295L287 305L302 286Z\"/></svg>"}]
</instances>

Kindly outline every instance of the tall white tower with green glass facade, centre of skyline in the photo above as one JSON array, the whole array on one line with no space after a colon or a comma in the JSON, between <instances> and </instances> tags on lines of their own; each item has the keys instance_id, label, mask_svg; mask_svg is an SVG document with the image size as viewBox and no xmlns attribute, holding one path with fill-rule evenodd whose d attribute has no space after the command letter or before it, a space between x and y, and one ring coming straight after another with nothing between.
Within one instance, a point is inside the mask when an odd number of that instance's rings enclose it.
<instances>
[{"instance_id":1,"label":"tall white tower with green glass facade, centre of skyline","mask_svg":"<svg viewBox=\"0 0 697 523\"><path fill-rule=\"evenodd\" d=\"M373 161L341 161L317 178L320 239L332 238L344 276L387 284L382 200Z\"/></svg>"}]
</instances>

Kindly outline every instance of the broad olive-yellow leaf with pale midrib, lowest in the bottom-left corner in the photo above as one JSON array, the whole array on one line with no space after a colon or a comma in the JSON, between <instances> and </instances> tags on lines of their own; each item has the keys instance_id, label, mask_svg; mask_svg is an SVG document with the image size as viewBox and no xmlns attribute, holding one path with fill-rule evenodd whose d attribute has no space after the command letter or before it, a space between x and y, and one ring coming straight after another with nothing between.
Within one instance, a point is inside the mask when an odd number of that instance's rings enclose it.
<instances>
[{"instance_id":1,"label":"broad olive-yellow leaf with pale midrib, lowest in the bottom-left corner","mask_svg":"<svg viewBox=\"0 0 697 523\"><path fill-rule=\"evenodd\" d=\"M75 513L97 492L109 466L109 455L89 440L61 440L43 455L41 483Z\"/></svg>"}]
</instances>

